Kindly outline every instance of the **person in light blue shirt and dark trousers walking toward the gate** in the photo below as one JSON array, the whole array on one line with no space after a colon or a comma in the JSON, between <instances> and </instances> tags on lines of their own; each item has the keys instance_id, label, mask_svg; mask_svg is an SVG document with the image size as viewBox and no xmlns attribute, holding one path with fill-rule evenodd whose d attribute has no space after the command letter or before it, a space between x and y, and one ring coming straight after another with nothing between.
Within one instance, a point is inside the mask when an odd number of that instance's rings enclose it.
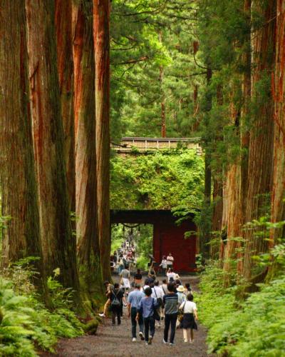
<instances>
[{"instance_id":1,"label":"person in light blue shirt and dark trousers walking toward the gate","mask_svg":"<svg viewBox=\"0 0 285 357\"><path fill-rule=\"evenodd\" d=\"M128 317L132 321L132 337L133 342L137 341L137 310L140 305L140 301L145 297L145 294L140 291L140 284L135 284L135 290L129 293L128 296ZM143 320L140 314L138 319L138 326L140 328L140 339L143 341L145 336L143 336Z\"/></svg>"}]
</instances>

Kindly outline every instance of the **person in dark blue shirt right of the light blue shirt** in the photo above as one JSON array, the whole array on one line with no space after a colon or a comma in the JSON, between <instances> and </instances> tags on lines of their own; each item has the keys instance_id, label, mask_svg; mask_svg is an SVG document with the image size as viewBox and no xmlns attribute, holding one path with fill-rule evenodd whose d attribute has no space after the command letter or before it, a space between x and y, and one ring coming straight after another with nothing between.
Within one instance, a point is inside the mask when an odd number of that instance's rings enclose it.
<instances>
[{"instance_id":1,"label":"person in dark blue shirt right of the light blue shirt","mask_svg":"<svg viewBox=\"0 0 285 357\"><path fill-rule=\"evenodd\" d=\"M143 318L145 326L145 344L151 345L152 339L155 336L155 308L157 307L157 301L151 297L152 289L145 289L145 298L140 300L139 307L137 309L136 320L139 321L140 314Z\"/></svg>"}]
</instances>

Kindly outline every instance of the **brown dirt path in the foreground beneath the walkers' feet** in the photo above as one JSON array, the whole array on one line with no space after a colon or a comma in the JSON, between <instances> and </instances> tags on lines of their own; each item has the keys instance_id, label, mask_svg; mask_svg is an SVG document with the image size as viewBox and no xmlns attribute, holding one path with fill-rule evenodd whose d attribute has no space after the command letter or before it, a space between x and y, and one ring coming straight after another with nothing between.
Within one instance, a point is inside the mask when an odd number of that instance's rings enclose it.
<instances>
[{"instance_id":1,"label":"brown dirt path in the foreground beneath the walkers' feet","mask_svg":"<svg viewBox=\"0 0 285 357\"><path fill-rule=\"evenodd\" d=\"M189 281L193 291L197 290L196 277L184 277L182 281ZM195 333L195 341L192 344L183 342L180 329L176 331L175 346L163 344L162 336L163 321L162 327L155 329L152 345L146 346L145 342L139 339L137 342L132 342L130 319L127 316L127 309L124 308L123 321L120 326L112 326L110 318L106 318L99 326L96 336L63 339L58 343L56 355L45 356L209 356L205 343L207 332L199 324L198 331Z\"/></svg>"}]
</instances>

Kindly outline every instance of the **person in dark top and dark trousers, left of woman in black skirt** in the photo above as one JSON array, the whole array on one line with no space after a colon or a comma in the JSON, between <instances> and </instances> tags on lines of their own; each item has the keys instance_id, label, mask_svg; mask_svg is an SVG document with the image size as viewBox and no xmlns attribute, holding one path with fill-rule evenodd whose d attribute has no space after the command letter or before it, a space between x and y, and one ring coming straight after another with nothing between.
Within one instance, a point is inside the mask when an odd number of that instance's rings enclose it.
<instances>
[{"instance_id":1,"label":"person in dark top and dark trousers, left of woman in black skirt","mask_svg":"<svg viewBox=\"0 0 285 357\"><path fill-rule=\"evenodd\" d=\"M165 331L163 343L167 343L168 341L168 331L171 326L170 346L173 346L178 314L178 296L177 293L175 293L175 287L172 283L167 284L167 290L169 291L169 293L163 296L163 303L165 305Z\"/></svg>"}]
</instances>

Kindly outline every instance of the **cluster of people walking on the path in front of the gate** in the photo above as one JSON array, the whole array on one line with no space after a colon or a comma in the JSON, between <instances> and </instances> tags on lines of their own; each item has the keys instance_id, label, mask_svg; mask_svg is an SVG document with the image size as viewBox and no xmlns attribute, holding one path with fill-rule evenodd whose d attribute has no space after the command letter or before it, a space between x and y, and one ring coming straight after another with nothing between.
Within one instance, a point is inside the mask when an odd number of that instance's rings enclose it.
<instances>
[{"instance_id":1,"label":"cluster of people walking on the path in front of the gate","mask_svg":"<svg viewBox=\"0 0 285 357\"><path fill-rule=\"evenodd\" d=\"M155 270L150 271L144 283L142 273L138 269L130 283L130 271L125 265L120 271L120 283L112 285L105 281L107 302L100 316L106 317L108 309L112 313L112 323L118 325L123 316L123 306L128 306L128 317L132 325L133 342L137 341L137 325L139 336L147 345L152 343L155 336L155 326L160 327L164 321L164 336L162 343L175 341L175 331L182 328L184 342L193 343L193 331L197 330L197 306L193 302L193 294L190 283L183 286L180 276L173 271L173 257L171 253L162 258L162 269L167 278L162 283L157 280ZM130 291L131 286L133 291ZM169 336L170 331L170 336ZM188 336L190 331L190 336Z\"/></svg>"}]
</instances>

